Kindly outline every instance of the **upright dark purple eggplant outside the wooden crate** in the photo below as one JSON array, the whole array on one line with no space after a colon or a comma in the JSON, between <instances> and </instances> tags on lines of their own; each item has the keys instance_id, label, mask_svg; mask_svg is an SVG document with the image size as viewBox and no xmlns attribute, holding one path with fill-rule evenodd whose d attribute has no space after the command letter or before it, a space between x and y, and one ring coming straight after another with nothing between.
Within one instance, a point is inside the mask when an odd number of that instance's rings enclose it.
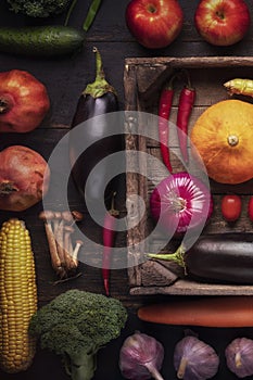
<instances>
[{"instance_id":1,"label":"upright dark purple eggplant outside the wooden crate","mask_svg":"<svg viewBox=\"0 0 253 380\"><path fill-rule=\"evenodd\" d=\"M77 103L68 149L72 177L77 189L83 198L98 205L115 191L115 187L111 189L112 165L106 157L122 150L123 140L116 113L117 96L105 80L98 49L93 51L97 54L96 80L87 85Z\"/></svg>"}]
</instances>

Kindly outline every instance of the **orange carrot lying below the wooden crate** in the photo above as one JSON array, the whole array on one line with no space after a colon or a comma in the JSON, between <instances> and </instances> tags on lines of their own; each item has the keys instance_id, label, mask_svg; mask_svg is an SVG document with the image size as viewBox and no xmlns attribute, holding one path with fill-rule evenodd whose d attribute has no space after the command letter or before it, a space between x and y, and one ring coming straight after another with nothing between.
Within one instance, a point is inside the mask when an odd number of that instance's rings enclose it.
<instances>
[{"instance_id":1,"label":"orange carrot lying below the wooden crate","mask_svg":"<svg viewBox=\"0 0 253 380\"><path fill-rule=\"evenodd\" d=\"M165 325L253 327L253 296L200 296L141 306L141 320Z\"/></svg>"}]
</instances>

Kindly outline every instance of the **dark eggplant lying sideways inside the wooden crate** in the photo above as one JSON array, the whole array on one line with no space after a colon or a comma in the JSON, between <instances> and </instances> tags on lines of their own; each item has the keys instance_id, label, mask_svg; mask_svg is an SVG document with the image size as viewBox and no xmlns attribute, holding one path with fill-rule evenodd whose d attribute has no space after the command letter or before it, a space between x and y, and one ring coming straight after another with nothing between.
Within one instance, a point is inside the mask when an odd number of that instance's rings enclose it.
<instances>
[{"instance_id":1,"label":"dark eggplant lying sideways inside the wooden crate","mask_svg":"<svg viewBox=\"0 0 253 380\"><path fill-rule=\"evenodd\" d=\"M253 283L253 233L201 236L188 250L174 254L149 254L155 259L177 262L189 278L218 283Z\"/></svg>"}]
</instances>

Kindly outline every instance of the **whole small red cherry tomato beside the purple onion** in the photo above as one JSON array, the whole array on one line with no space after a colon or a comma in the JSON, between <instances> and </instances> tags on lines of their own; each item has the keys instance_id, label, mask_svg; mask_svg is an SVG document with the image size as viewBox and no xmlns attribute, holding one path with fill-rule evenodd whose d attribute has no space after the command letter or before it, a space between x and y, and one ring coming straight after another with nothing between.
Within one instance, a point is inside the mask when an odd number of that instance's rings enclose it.
<instances>
[{"instance_id":1,"label":"whole small red cherry tomato beside the purple onion","mask_svg":"<svg viewBox=\"0 0 253 380\"><path fill-rule=\"evenodd\" d=\"M253 202L253 201L252 201ZM224 195L222 199L222 214L225 220L236 221L241 214L241 198L236 194ZM253 217L253 203L252 203Z\"/></svg>"}]
</instances>

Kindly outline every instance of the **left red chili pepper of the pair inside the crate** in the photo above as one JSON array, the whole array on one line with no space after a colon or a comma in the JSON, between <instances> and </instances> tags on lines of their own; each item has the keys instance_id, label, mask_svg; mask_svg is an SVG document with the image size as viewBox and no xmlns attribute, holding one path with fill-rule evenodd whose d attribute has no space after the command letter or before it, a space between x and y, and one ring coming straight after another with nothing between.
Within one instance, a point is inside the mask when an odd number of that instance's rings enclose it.
<instances>
[{"instance_id":1,"label":"left red chili pepper of the pair inside the crate","mask_svg":"<svg viewBox=\"0 0 253 380\"><path fill-rule=\"evenodd\" d=\"M163 88L160 96L159 102L159 139L160 139L160 149L163 162L167 167L169 173L173 173L173 167L169 160L169 149L168 149L168 119L173 105L173 81L176 75L174 75L168 84Z\"/></svg>"}]
</instances>

